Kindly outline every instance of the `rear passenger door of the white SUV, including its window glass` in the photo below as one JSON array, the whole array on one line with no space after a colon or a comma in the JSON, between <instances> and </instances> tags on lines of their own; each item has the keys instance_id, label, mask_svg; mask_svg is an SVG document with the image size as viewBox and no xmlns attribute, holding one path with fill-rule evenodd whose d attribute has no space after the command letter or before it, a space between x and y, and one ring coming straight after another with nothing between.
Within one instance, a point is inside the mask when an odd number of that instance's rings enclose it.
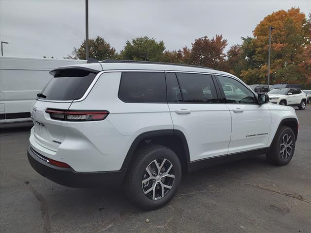
<instances>
[{"instance_id":1,"label":"rear passenger door of the white SUV, including its window glass","mask_svg":"<svg viewBox=\"0 0 311 233\"><path fill-rule=\"evenodd\" d=\"M226 155L231 116L219 103L212 75L167 72L166 81L173 128L184 133L190 162Z\"/></svg>"}]
</instances>

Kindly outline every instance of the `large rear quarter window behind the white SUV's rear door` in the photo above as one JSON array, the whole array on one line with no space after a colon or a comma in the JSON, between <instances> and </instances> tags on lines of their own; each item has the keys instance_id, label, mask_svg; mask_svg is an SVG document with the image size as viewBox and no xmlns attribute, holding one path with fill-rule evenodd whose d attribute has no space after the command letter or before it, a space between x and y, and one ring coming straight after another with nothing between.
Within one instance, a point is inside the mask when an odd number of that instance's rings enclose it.
<instances>
[{"instance_id":1,"label":"large rear quarter window behind the white SUV's rear door","mask_svg":"<svg viewBox=\"0 0 311 233\"><path fill-rule=\"evenodd\" d=\"M118 97L124 102L166 103L164 73L122 72Z\"/></svg>"}]
</instances>

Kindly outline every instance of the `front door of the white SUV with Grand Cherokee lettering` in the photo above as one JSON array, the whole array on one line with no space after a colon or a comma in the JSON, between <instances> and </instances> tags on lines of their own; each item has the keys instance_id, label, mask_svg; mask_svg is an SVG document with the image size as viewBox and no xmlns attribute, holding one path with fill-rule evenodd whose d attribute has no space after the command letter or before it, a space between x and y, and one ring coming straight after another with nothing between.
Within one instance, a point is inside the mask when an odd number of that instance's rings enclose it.
<instances>
[{"instance_id":1,"label":"front door of the white SUV with Grand Cherokee lettering","mask_svg":"<svg viewBox=\"0 0 311 233\"><path fill-rule=\"evenodd\" d=\"M223 92L232 118L228 154L266 148L271 127L271 112L267 104L259 105L255 94L237 79L217 77L221 89L228 84L235 89L233 93Z\"/></svg>"}]
</instances>

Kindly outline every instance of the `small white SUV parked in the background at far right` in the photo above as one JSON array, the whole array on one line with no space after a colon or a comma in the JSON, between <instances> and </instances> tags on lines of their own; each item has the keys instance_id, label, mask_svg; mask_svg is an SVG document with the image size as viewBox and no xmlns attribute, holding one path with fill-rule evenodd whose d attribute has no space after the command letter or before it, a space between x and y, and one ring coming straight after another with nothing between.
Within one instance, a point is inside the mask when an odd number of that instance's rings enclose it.
<instances>
[{"instance_id":1,"label":"small white SUV parked in the background at far right","mask_svg":"<svg viewBox=\"0 0 311 233\"><path fill-rule=\"evenodd\" d=\"M307 94L296 88L276 88L268 92L271 103L297 106L304 110L307 103Z\"/></svg>"}]
</instances>

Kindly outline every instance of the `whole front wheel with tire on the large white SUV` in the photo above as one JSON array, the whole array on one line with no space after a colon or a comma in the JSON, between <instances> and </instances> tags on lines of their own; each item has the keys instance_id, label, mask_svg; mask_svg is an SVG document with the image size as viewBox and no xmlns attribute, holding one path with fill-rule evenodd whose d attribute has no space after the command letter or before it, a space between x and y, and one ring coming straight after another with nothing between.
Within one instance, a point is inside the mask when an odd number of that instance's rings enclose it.
<instances>
[{"instance_id":1,"label":"whole front wheel with tire on the large white SUV","mask_svg":"<svg viewBox=\"0 0 311 233\"><path fill-rule=\"evenodd\" d=\"M295 134L290 127L281 126L276 132L273 145L266 154L267 160L274 165L287 165L295 151Z\"/></svg>"}]
</instances>

